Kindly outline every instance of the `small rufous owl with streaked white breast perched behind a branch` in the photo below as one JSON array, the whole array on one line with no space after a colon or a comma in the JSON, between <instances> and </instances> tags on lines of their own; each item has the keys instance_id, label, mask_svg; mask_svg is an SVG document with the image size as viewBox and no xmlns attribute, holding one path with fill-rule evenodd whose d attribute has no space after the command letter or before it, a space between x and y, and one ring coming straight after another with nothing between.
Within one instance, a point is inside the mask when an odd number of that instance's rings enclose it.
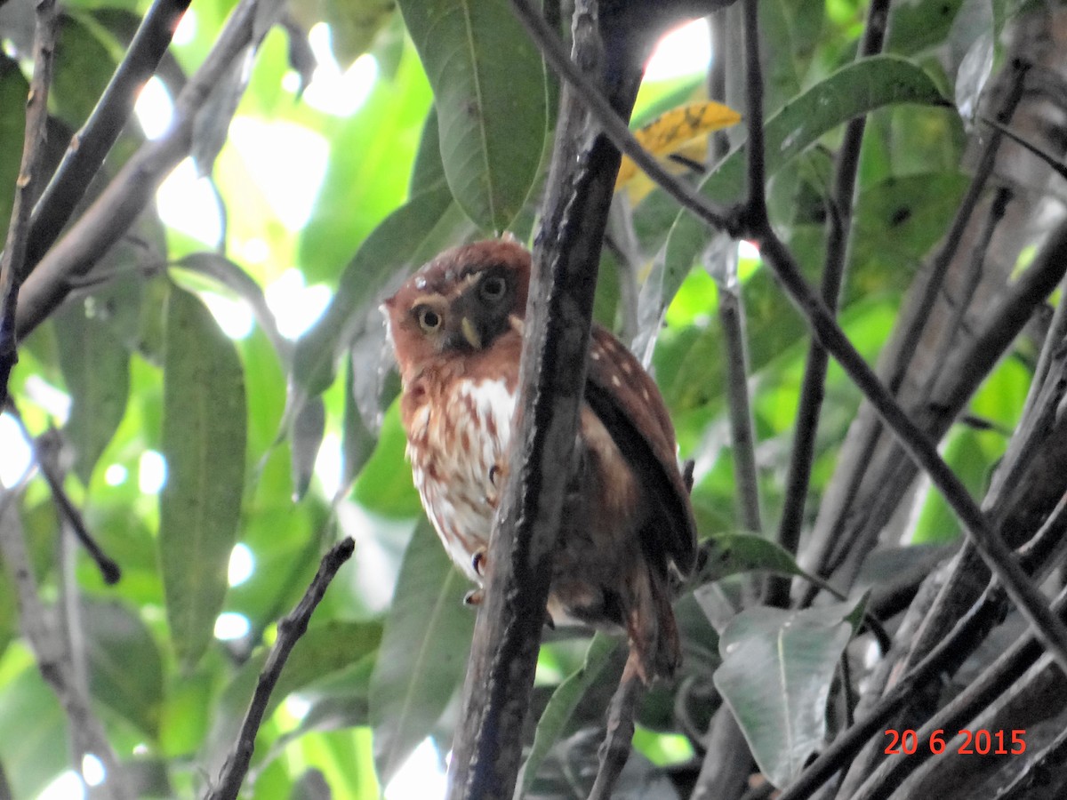
<instances>
[{"instance_id":1,"label":"small rufous owl with streaked white breast perched behind a branch","mask_svg":"<svg viewBox=\"0 0 1067 800\"><path fill-rule=\"evenodd\" d=\"M479 585L515 425L529 279L526 250L482 241L441 254L383 306L415 485L448 555ZM646 683L679 665L672 573L696 560L675 449L656 385L594 325L547 610L557 625L625 630Z\"/></svg>"}]
</instances>

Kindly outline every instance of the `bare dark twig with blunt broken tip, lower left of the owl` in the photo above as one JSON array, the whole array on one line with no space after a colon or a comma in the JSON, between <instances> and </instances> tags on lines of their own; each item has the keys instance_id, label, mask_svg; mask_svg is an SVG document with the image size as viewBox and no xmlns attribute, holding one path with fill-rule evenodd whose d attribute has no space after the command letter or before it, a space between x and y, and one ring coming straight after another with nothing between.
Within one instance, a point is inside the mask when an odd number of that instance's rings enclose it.
<instances>
[{"instance_id":1,"label":"bare dark twig with blunt broken tip, lower left of the owl","mask_svg":"<svg viewBox=\"0 0 1067 800\"><path fill-rule=\"evenodd\" d=\"M244 775L249 771L252 753L255 750L256 734L259 732L259 725L262 724L271 692L274 691L274 686L285 668L286 659L300 637L307 630L307 623L312 619L315 608L319 605L319 601L322 599L322 595L325 594L330 581L333 580L341 565L351 558L354 550L355 541L351 537L346 537L334 545L322 557L318 572L312 578L312 582L300 603L277 624L277 640L271 647L262 672L259 673L256 690L249 704L249 710L244 714L240 733L226 756L226 763L222 767L218 782L205 795L206 800L230 800L236 798L240 791Z\"/></svg>"}]
</instances>

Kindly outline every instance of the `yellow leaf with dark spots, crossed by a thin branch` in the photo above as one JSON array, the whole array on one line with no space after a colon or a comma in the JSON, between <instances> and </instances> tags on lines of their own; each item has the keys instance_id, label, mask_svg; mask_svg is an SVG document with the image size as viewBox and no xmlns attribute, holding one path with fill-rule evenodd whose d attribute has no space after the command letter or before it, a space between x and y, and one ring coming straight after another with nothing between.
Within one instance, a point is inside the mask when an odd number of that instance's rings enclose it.
<instances>
[{"instance_id":1,"label":"yellow leaf with dark spots, crossed by a thin branch","mask_svg":"<svg viewBox=\"0 0 1067 800\"><path fill-rule=\"evenodd\" d=\"M708 133L729 128L740 122L740 114L719 102L702 100L671 109L646 125L634 137L653 156L682 155L692 161L704 158ZM635 178L638 180L635 181ZM615 181L616 191L631 182L639 186L630 188L631 202L640 202L651 191L652 183L638 170L628 156L624 156L619 166L619 177Z\"/></svg>"}]
</instances>

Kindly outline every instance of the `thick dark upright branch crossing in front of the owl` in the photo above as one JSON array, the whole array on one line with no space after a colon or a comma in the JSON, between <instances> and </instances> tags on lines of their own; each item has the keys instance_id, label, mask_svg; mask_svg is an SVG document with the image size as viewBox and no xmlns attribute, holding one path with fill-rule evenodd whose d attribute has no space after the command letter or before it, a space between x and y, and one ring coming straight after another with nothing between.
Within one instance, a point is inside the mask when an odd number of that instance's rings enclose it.
<instances>
[{"instance_id":1,"label":"thick dark upright branch crossing in front of the owl","mask_svg":"<svg viewBox=\"0 0 1067 800\"><path fill-rule=\"evenodd\" d=\"M546 26L537 12L521 0L514 7L528 29L540 31L542 38L559 49L555 37L545 34ZM594 5L576 3L573 30L582 63L591 70L603 68ZM621 158L605 138L590 141L587 130L584 106L568 86L534 251L520 369L519 407L523 412L514 438L517 446L511 453L490 544L485 599L475 625L452 745L451 800L510 799L519 772L520 737L568 490L570 470L560 465L572 461L596 267Z\"/></svg>"}]
</instances>

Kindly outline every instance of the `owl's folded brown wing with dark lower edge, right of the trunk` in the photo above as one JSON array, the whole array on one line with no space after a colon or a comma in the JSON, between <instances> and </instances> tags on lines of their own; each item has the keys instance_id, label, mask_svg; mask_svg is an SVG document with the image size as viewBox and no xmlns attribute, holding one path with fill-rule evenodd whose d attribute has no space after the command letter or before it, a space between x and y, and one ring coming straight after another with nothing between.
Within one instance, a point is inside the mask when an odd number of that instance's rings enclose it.
<instances>
[{"instance_id":1,"label":"owl's folded brown wing with dark lower edge, right of the trunk","mask_svg":"<svg viewBox=\"0 0 1067 800\"><path fill-rule=\"evenodd\" d=\"M659 389L637 358L600 325L593 325L589 352L586 402L650 490L666 523L647 544L666 549L686 575L697 560L697 525L678 467L674 427Z\"/></svg>"}]
</instances>

